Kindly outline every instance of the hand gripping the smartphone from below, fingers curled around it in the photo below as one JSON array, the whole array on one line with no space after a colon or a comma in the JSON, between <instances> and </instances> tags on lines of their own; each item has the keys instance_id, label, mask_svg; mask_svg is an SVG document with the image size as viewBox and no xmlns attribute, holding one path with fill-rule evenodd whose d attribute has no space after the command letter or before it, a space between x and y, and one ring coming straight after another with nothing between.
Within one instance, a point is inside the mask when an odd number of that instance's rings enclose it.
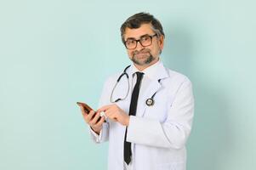
<instances>
[{"instance_id":1,"label":"hand gripping the smartphone from below, fingers curled around it","mask_svg":"<svg viewBox=\"0 0 256 170\"><path fill-rule=\"evenodd\" d=\"M82 117L85 122L88 123L88 125L94 130L95 133L100 134L100 130L102 128L102 124L105 121L105 117L100 117L100 112L94 112L93 110L90 111L88 114L84 111L84 108L80 106L80 109L82 111ZM98 121L100 117L100 121Z\"/></svg>"}]
</instances>

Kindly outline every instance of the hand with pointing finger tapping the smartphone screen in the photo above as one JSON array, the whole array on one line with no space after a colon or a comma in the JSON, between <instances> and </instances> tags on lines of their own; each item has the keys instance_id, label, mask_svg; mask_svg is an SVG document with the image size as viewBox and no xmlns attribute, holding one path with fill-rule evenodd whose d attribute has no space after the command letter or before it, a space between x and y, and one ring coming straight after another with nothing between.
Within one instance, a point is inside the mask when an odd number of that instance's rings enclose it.
<instances>
[{"instance_id":1,"label":"hand with pointing finger tapping the smartphone screen","mask_svg":"<svg viewBox=\"0 0 256 170\"><path fill-rule=\"evenodd\" d=\"M129 125L130 116L128 116L126 112L122 111L122 109L120 109L120 107L117 105L105 105L101 107L97 112L101 111L104 111L105 116L107 116L112 121L119 122L123 126Z\"/></svg>"}]
</instances>

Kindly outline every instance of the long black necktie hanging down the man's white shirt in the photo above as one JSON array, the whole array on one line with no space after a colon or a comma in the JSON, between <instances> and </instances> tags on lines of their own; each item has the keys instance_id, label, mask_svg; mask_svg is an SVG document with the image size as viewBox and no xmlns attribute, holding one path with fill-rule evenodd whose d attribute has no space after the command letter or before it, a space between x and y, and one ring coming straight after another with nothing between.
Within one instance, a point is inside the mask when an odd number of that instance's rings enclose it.
<instances>
[{"instance_id":1,"label":"long black necktie hanging down the man's white shirt","mask_svg":"<svg viewBox=\"0 0 256 170\"><path fill-rule=\"evenodd\" d=\"M139 96L139 87L140 87L140 82L143 77L143 74L144 74L143 72L136 72L137 82L134 86L134 91L132 94L132 99L131 99L131 104L130 104L130 109L129 109L129 116L136 115L138 96ZM129 164L129 162L131 161L132 150L131 150L131 143L126 141L126 136L127 136L127 127L126 127L125 135L124 135L123 157L124 157L124 161L127 164Z\"/></svg>"}]
</instances>

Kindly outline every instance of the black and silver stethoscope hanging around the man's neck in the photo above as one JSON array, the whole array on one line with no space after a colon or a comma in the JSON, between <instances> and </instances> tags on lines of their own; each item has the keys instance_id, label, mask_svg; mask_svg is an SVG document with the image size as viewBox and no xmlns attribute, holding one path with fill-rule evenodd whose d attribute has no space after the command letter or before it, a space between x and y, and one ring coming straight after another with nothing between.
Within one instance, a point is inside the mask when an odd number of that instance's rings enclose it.
<instances>
[{"instance_id":1,"label":"black and silver stethoscope hanging around the man's neck","mask_svg":"<svg viewBox=\"0 0 256 170\"><path fill-rule=\"evenodd\" d=\"M129 76L128 76L128 74L127 74L126 71L128 70L128 68L129 68L130 66L131 66L131 65L128 65L128 66L123 70L122 74L117 78L117 82L116 82L114 88L113 88L112 91L111 91L111 99L110 99L110 100L111 100L111 103L116 103L116 102L118 102L118 101L120 101L120 100L124 100L124 99L126 99L126 98L128 97L128 93L129 93L129 89L130 89L129 81L127 81L127 82L128 82L128 92L126 93L126 95L125 95L124 98L118 98L118 99L114 100L114 99L112 98L112 97L113 97L112 95L113 95L115 89L117 88L118 82L120 82L120 80L122 79L123 76L127 77L127 80L129 80ZM158 82L160 82L160 81L161 81L161 79L158 80ZM157 92L157 91L156 91L156 92ZM152 106L152 105L155 104L154 97L155 97L155 95L156 95L156 92L155 92L155 94L153 94L153 95L151 96L151 98L145 100L145 105Z\"/></svg>"}]
</instances>

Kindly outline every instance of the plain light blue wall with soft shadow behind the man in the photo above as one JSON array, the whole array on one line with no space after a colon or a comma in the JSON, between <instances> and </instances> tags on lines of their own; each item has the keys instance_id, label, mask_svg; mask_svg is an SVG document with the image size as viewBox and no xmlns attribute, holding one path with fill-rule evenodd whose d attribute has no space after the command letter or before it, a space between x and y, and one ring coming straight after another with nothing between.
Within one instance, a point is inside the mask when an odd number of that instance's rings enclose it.
<instances>
[{"instance_id":1,"label":"plain light blue wall with soft shadow behind the man","mask_svg":"<svg viewBox=\"0 0 256 170\"><path fill-rule=\"evenodd\" d=\"M105 78L129 65L119 28L150 12L162 61L190 77L196 112L188 170L256 167L255 3L1 1L0 169L106 169L77 101L98 105Z\"/></svg>"}]
</instances>

